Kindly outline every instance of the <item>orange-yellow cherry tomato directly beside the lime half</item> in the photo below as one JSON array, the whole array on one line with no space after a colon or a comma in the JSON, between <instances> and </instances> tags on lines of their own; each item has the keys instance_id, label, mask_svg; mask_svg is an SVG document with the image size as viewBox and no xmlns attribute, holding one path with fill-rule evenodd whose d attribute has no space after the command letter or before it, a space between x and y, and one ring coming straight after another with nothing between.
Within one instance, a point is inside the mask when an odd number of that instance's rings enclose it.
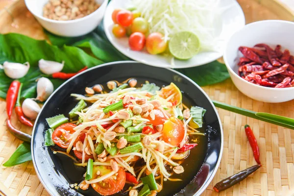
<instances>
[{"instance_id":1,"label":"orange-yellow cherry tomato directly beside the lime half","mask_svg":"<svg viewBox=\"0 0 294 196\"><path fill-rule=\"evenodd\" d=\"M167 43L161 33L150 33L146 39L146 49L150 54L159 54L166 50Z\"/></svg>"}]
</instances>

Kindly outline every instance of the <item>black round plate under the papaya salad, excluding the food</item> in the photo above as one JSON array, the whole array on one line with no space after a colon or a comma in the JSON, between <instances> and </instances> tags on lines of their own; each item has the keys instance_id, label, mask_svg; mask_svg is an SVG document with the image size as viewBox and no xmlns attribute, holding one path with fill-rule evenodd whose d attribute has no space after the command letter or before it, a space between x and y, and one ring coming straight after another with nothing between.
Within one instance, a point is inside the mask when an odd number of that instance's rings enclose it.
<instances>
[{"instance_id":1,"label":"black round plate under the papaya salad, excluding the food","mask_svg":"<svg viewBox=\"0 0 294 196\"><path fill-rule=\"evenodd\" d=\"M183 92L184 103L198 105L207 110L203 126L207 137L202 144L198 145L198 149L203 150L191 151L192 154L189 157L195 161L184 162L186 164L184 167L189 167L190 172L183 173L183 181L173 186L165 186L165 192L160 192L158 196L200 195L208 186L217 172L223 147L221 122L213 103L195 82L181 73L133 61L121 61L91 68L76 75L61 85L44 104L32 133L31 150L37 175L50 195L97 196L99 194L92 188L87 191L76 191L70 188L70 184L82 180L85 169L75 167L70 158L53 154L49 147L44 146L45 130L49 128L45 119L58 114L67 114L76 104L74 98L70 96L72 93L84 94L87 86L105 84L109 80L123 81L129 77L135 77L138 81L148 80L158 86L169 85L173 82Z\"/></svg>"}]
</instances>

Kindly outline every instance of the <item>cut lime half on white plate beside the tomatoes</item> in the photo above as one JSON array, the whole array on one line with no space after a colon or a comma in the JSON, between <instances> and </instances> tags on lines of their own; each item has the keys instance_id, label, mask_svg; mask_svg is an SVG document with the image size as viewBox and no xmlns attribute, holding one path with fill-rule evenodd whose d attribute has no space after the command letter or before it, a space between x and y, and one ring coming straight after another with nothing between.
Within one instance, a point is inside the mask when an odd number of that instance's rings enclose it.
<instances>
[{"instance_id":1,"label":"cut lime half on white plate beside the tomatoes","mask_svg":"<svg viewBox=\"0 0 294 196\"><path fill-rule=\"evenodd\" d=\"M194 33L182 31L172 36L169 42L169 49L175 58L186 60L198 53L200 42Z\"/></svg>"}]
</instances>

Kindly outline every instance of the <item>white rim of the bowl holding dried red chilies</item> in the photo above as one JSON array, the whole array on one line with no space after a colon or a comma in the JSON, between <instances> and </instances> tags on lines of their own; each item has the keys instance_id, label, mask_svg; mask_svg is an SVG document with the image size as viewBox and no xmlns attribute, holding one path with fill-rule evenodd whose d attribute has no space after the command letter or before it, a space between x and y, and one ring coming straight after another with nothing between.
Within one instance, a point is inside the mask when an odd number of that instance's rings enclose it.
<instances>
[{"instance_id":1,"label":"white rim of the bowl holding dried red chilies","mask_svg":"<svg viewBox=\"0 0 294 196\"><path fill-rule=\"evenodd\" d=\"M228 61L227 61L227 55L226 54L226 49L228 48L229 46L229 41L230 39L237 33L240 33L241 31L243 31L245 28L250 28L251 26L254 26L254 25L258 25L260 23L283 23L283 24L291 24L291 25L294 25L293 22L290 22L290 21L283 21L283 20L265 20L265 21L257 21L257 22L253 22L253 23L249 23L247 25L245 25L243 28L239 29L238 31L236 31L235 33L233 33L233 35L227 40L226 42L226 45L224 47L224 53L223 53L223 60L224 60L224 63L225 63L225 66L227 67L228 71L230 73L232 73L233 75L237 76L238 79L244 81L245 83L251 85L252 87L257 87L257 88L261 88L261 89L265 89L265 90L272 90L272 91L287 91L287 90L292 90L294 89L294 87L287 87L287 88L272 88L272 87L266 87L266 86L259 86L259 85L256 85L256 84L253 84L251 82L248 82L247 80L243 79L242 77L240 77L236 72L233 71L233 69L228 65Z\"/></svg>"}]
</instances>

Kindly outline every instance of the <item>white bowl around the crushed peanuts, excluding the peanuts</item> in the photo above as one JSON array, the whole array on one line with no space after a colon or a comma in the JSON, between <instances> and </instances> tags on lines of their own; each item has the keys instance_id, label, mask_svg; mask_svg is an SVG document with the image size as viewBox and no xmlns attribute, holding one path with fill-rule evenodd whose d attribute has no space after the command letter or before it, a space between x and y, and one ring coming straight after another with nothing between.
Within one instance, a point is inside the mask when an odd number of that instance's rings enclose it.
<instances>
[{"instance_id":1,"label":"white bowl around the crushed peanuts, excluding the peanuts","mask_svg":"<svg viewBox=\"0 0 294 196\"><path fill-rule=\"evenodd\" d=\"M60 36L76 37L85 35L102 21L108 0L95 0L100 7L90 15L71 21L56 21L43 17L43 7L48 0L25 0L27 9L49 32Z\"/></svg>"}]
</instances>

